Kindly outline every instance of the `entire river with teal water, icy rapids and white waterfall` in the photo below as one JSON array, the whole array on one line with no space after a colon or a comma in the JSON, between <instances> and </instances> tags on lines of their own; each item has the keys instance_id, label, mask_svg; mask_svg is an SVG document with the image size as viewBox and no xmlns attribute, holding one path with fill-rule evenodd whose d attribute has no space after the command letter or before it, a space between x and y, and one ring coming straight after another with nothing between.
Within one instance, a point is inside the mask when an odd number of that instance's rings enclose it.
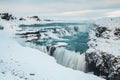
<instances>
[{"instance_id":1,"label":"entire river with teal water, icy rapids and white waterfall","mask_svg":"<svg viewBox=\"0 0 120 80\"><path fill-rule=\"evenodd\" d=\"M26 35L23 32L18 34L25 38L27 46L53 56L57 63L63 66L85 71L84 53L88 49L89 24L51 23L37 26L22 25L20 28Z\"/></svg>"}]
</instances>

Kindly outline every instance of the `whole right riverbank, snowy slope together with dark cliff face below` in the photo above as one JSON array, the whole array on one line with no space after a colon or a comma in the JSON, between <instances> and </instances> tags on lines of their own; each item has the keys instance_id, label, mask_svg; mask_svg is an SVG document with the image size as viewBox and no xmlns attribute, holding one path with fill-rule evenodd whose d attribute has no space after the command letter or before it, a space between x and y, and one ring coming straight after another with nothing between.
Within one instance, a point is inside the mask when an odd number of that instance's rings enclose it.
<instances>
[{"instance_id":1,"label":"whole right riverbank, snowy slope together with dark cliff face below","mask_svg":"<svg viewBox=\"0 0 120 80\"><path fill-rule=\"evenodd\" d=\"M89 31L88 72L107 80L120 80L120 17L95 21Z\"/></svg>"}]
</instances>

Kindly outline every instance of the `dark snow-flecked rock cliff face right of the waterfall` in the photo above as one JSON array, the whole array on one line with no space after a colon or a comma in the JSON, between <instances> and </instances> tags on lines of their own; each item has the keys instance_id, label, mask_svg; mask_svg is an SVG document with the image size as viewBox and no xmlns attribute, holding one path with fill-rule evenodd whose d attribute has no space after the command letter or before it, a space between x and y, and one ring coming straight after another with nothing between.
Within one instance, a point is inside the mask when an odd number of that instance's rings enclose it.
<instances>
[{"instance_id":1,"label":"dark snow-flecked rock cliff face right of the waterfall","mask_svg":"<svg viewBox=\"0 0 120 80\"><path fill-rule=\"evenodd\" d=\"M120 80L120 57L115 57L104 52L86 53L88 72L103 76L107 80Z\"/></svg>"}]
</instances>

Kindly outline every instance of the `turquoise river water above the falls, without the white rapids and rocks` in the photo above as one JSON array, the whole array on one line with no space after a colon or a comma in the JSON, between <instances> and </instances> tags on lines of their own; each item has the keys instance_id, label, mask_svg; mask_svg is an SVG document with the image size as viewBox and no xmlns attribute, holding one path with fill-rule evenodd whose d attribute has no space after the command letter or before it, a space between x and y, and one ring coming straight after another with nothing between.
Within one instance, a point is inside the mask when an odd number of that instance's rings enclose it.
<instances>
[{"instance_id":1,"label":"turquoise river water above the falls, without the white rapids and rocks","mask_svg":"<svg viewBox=\"0 0 120 80\"><path fill-rule=\"evenodd\" d=\"M88 26L86 23L48 23L48 24L34 24L34 25L20 25L21 28L27 29L27 30L37 30L40 33L46 33L50 31L51 29L68 29L71 26L77 26L77 27L82 27L82 26ZM66 28L67 27L67 28ZM40 46L47 46L51 45L54 46L57 43L64 42L67 43L66 46L61 46L64 47L68 50L75 51L75 52L80 52L84 53L88 49L88 31L82 31L78 30L78 28L75 29L75 34L71 34L69 36L62 36L60 39L54 39L54 38L49 38L49 39L40 39L34 41L36 45ZM54 34L57 34L58 32L53 32Z\"/></svg>"}]
</instances>

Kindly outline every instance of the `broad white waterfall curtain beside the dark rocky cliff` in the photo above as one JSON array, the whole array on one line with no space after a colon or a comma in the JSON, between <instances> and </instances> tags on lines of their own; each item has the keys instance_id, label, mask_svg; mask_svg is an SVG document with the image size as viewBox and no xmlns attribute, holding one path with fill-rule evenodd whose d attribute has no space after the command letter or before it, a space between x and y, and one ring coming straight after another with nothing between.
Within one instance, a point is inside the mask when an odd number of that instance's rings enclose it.
<instances>
[{"instance_id":1,"label":"broad white waterfall curtain beside the dark rocky cliff","mask_svg":"<svg viewBox=\"0 0 120 80\"><path fill-rule=\"evenodd\" d=\"M56 48L53 57L56 59L57 63L63 66L80 71L85 71L86 69L84 54L80 55L80 53L75 53L64 48Z\"/></svg>"}]
</instances>

